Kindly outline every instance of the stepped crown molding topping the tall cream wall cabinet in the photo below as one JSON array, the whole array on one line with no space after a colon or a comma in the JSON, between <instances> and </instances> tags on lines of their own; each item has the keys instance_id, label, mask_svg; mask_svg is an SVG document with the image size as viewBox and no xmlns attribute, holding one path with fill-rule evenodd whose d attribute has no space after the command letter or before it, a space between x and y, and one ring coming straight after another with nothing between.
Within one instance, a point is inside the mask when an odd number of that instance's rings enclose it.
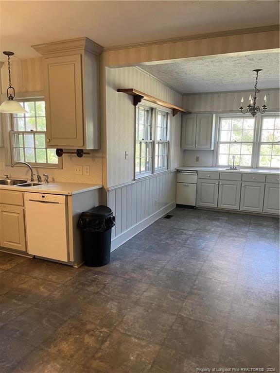
<instances>
[{"instance_id":1,"label":"stepped crown molding topping the tall cream wall cabinet","mask_svg":"<svg viewBox=\"0 0 280 373\"><path fill-rule=\"evenodd\" d=\"M32 45L41 55L48 55L53 53L69 52L83 50L94 54L101 54L103 47L88 37L78 37L75 39L53 41L51 43L36 44Z\"/></svg>"}]
</instances>

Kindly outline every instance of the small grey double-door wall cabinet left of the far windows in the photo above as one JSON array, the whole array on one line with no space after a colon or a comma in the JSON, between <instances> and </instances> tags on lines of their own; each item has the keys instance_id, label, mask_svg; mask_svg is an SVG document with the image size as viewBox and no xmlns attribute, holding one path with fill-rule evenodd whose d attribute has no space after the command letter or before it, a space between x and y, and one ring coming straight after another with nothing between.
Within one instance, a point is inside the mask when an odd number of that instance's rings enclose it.
<instances>
[{"instance_id":1,"label":"small grey double-door wall cabinet left of the far windows","mask_svg":"<svg viewBox=\"0 0 280 373\"><path fill-rule=\"evenodd\" d=\"M213 150L214 148L214 115L198 113L182 115L183 149Z\"/></svg>"}]
</instances>

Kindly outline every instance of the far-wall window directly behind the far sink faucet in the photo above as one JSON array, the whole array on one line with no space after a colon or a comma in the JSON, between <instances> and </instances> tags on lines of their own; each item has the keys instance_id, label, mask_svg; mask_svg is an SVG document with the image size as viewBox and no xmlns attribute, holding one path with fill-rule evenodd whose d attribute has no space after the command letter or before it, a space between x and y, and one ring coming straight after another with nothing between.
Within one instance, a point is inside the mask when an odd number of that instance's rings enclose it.
<instances>
[{"instance_id":1,"label":"far-wall window directly behind the far sink faucet","mask_svg":"<svg viewBox=\"0 0 280 373\"><path fill-rule=\"evenodd\" d=\"M252 167L255 119L249 117L220 117L217 146L217 166L235 164Z\"/></svg>"}]
</instances>

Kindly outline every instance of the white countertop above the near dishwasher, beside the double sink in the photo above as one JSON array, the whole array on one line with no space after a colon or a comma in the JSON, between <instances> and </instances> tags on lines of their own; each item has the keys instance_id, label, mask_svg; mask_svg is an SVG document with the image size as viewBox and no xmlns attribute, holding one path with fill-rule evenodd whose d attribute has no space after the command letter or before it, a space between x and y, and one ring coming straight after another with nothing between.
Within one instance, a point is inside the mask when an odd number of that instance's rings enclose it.
<instances>
[{"instance_id":1,"label":"white countertop above the near dishwasher, beside the double sink","mask_svg":"<svg viewBox=\"0 0 280 373\"><path fill-rule=\"evenodd\" d=\"M85 184L85 183L64 183L64 182L53 182L43 183L36 186L9 186L0 185L0 189L17 190L21 192L34 192L34 193L50 193L50 194L63 194L72 195L87 192L89 190L100 189L100 184Z\"/></svg>"}]
</instances>

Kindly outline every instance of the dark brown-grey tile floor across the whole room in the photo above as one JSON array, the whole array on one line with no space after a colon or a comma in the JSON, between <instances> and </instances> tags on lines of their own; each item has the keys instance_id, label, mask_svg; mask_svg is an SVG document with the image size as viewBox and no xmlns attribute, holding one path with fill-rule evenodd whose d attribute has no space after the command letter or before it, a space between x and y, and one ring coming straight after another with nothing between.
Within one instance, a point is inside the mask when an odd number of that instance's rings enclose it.
<instances>
[{"instance_id":1,"label":"dark brown-grey tile floor across the whole room","mask_svg":"<svg viewBox=\"0 0 280 373\"><path fill-rule=\"evenodd\" d=\"M0 253L0 373L279 372L279 220L171 214L105 267Z\"/></svg>"}]
</instances>

